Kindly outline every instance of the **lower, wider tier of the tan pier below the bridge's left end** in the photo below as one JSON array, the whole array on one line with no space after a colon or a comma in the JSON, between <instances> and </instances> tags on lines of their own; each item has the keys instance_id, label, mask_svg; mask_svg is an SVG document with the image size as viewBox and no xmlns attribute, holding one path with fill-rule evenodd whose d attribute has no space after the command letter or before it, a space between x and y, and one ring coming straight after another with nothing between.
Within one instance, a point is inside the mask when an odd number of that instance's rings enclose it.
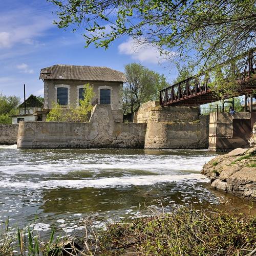
<instances>
[{"instance_id":1,"label":"lower, wider tier of the tan pier below the bridge's left end","mask_svg":"<svg viewBox=\"0 0 256 256\"><path fill-rule=\"evenodd\" d=\"M150 122L145 148L207 148L209 117L197 122Z\"/></svg>"}]
</instances>

